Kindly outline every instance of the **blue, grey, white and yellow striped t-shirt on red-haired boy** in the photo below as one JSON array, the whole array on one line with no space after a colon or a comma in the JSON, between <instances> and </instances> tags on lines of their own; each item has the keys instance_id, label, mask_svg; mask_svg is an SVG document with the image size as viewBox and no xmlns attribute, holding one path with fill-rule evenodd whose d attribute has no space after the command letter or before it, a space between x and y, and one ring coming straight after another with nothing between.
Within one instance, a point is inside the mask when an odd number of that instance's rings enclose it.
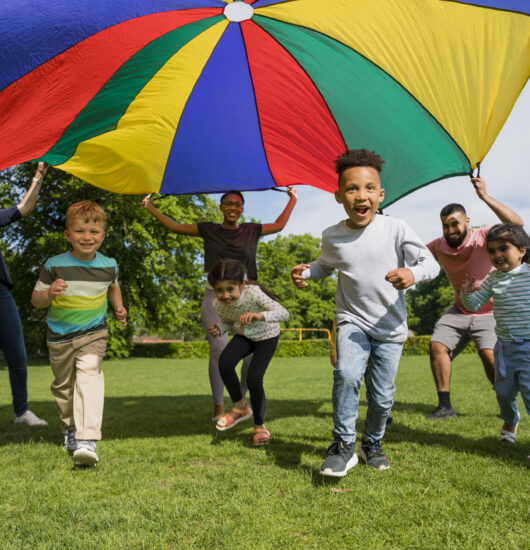
<instances>
[{"instance_id":1,"label":"blue, grey, white and yellow striped t-shirt on red-haired boy","mask_svg":"<svg viewBox=\"0 0 530 550\"><path fill-rule=\"evenodd\" d=\"M49 342L64 342L107 329L107 291L118 284L116 260L96 252L93 260L78 260L70 252L46 261L35 290L48 290L63 279L68 288L48 310Z\"/></svg>"}]
</instances>

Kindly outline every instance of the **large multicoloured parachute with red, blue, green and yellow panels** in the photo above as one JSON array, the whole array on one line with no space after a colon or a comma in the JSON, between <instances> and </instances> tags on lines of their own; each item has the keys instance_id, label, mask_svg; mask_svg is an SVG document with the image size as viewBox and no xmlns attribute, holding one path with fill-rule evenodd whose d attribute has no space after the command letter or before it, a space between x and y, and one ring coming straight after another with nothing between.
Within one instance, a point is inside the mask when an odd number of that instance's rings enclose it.
<instances>
[{"instance_id":1,"label":"large multicoloured parachute with red, blue, green and yellow panels","mask_svg":"<svg viewBox=\"0 0 530 550\"><path fill-rule=\"evenodd\" d=\"M530 74L526 0L4 0L0 168L118 193L308 184L386 204L481 161Z\"/></svg>"}]
</instances>

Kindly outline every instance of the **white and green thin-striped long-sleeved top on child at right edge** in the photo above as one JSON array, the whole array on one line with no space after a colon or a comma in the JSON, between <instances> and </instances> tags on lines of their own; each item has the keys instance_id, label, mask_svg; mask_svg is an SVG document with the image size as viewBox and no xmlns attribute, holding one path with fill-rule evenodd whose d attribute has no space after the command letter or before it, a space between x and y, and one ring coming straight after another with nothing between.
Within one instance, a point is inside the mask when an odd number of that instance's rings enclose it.
<instances>
[{"instance_id":1,"label":"white and green thin-striped long-sleeved top on child at right edge","mask_svg":"<svg viewBox=\"0 0 530 550\"><path fill-rule=\"evenodd\" d=\"M467 309L476 310L493 297L495 332L499 340L530 340L530 266L492 271L476 292L461 292Z\"/></svg>"}]
</instances>

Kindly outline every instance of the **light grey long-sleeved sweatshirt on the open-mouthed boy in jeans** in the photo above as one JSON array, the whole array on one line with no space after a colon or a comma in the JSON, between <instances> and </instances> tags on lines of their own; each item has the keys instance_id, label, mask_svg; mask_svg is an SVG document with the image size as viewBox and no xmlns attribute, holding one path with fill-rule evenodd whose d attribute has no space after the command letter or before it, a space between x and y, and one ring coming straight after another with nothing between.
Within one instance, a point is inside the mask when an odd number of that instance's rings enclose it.
<instances>
[{"instance_id":1,"label":"light grey long-sleeved sweatshirt on the open-mouthed boy in jeans","mask_svg":"<svg viewBox=\"0 0 530 550\"><path fill-rule=\"evenodd\" d=\"M302 277L322 279L336 269L337 323L354 323L383 342L404 342L405 291L396 290L385 276L405 264L415 283L433 279L440 272L433 255L403 220L376 215L362 229L350 229L344 220L324 230L320 258Z\"/></svg>"}]
</instances>

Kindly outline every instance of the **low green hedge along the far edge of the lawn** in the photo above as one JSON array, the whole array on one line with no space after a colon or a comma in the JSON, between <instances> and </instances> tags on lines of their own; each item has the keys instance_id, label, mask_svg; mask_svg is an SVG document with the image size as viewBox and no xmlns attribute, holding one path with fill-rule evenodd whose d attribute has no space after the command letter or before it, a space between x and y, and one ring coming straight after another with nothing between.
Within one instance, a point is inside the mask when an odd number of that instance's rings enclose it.
<instances>
[{"instance_id":1,"label":"low green hedge along the far edge of the lawn","mask_svg":"<svg viewBox=\"0 0 530 550\"><path fill-rule=\"evenodd\" d=\"M413 336L405 342L403 355L429 355L430 336ZM463 353L474 353L472 343ZM167 357L171 359L207 359L208 342L173 342L171 344L135 344L136 357ZM329 355L329 340L312 339L302 342L280 340L276 357L325 357Z\"/></svg>"}]
</instances>

